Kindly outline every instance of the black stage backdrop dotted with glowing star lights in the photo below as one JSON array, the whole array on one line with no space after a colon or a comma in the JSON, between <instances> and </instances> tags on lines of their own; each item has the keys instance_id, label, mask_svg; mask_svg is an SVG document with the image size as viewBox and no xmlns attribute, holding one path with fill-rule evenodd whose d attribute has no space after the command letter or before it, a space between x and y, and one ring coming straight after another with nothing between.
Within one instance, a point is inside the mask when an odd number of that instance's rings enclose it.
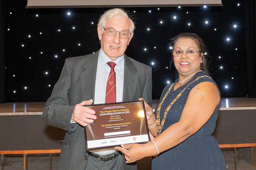
<instances>
[{"instance_id":1,"label":"black stage backdrop dotted with glowing star lights","mask_svg":"<svg viewBox=\"0 0 256 170\"><path fill-rule=\"evenodd\" d=\"M210 56L210 73L222 97L248 94L243 3L223 7L124 8L136 23L126 54L153 70L153 99L173 81L170 39L196 33ZM26 0L6 1L6 101L46 101L64 61L100 49L97 22L109 8L26 9Z\"/></svg>"}]
</instances>

